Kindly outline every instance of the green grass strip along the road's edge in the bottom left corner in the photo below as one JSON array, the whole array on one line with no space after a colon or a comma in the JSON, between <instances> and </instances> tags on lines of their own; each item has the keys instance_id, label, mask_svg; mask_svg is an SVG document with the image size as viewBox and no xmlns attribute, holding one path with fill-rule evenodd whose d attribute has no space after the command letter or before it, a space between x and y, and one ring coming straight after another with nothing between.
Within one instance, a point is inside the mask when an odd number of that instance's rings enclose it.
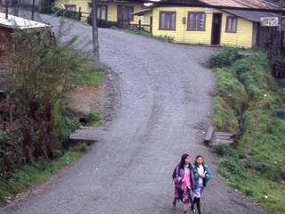
<instances>
[{"instance_id":1,"label":"green grass strip along the road's edge in the bottom left corner","mask_svg":"<svg viewBox=\"0 0 285 214\"><path fill-rule=\"evenodd\" d=\"M17 169L14 173L8 173L0 179L0 204L4 204L7 198L14 198L18 193L25 192L28 187L37 185L46 178L51 177L62 167L76 161L87 149L86 144L77 144L55 161L33 162L31 165L25 165L21 169Z\"/></svg>"}]
</instances>

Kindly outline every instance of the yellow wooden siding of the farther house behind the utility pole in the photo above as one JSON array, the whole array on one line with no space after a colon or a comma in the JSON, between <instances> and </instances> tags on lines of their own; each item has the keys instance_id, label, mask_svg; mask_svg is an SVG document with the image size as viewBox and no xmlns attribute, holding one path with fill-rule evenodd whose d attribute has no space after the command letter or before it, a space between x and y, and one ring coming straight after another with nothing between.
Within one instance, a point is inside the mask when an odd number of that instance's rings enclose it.
<instances>
[{"instance_id":1,"label":"yellow wooden siding of the farther house behind the utility pole","mask_svg":"<svg viewBox=\"0 0 285 214\"><path fill-rule=\"evenodd\" d=\"M79 11L79 7L81 7L81 12L88 12L90 13L92 11L92 8L89 7L89 4L92 2L90 0L69 0L68 4L76 4L77 5L77 12ZM63 0L55 0L55 7L60 7L61 4L65 4L65 1ZM124 6L134 6L134 12L141 11L142 10L142 4L138 3L114 3L114 2L97 2L97 5L107 5L108 6L108 14L107 19L108 21L117 21L117 6L118 5L124 5ZM138 16L134 16L134 21L131 21L131 24L138 23L141 18ZM85 21L85 19L82 19L81 21Z\"/></svg>"}]
</instances>

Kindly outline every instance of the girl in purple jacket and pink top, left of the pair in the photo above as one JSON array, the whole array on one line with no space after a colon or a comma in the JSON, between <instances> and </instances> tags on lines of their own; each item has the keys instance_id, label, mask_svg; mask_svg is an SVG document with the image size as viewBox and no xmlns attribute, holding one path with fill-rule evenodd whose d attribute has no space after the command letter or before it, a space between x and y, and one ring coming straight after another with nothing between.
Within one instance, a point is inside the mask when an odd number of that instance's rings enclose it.
<instances>
[{"instance_id":1,"label":"girl in purple jacket and pink top, left of the pair","mask_svg":"<svg viewBox=\"0 0 285 214\"><path fill-rule=\"evenodd\" d=\"M182 201L184 206L184 214L188 214L188 204L192 205L191 189L195 185L193 171L190 164L190 156L184 153L180 163L175 168L175 197L172 203L172 209L176 209L176 201Z\"/></svg>"}]
</instances>

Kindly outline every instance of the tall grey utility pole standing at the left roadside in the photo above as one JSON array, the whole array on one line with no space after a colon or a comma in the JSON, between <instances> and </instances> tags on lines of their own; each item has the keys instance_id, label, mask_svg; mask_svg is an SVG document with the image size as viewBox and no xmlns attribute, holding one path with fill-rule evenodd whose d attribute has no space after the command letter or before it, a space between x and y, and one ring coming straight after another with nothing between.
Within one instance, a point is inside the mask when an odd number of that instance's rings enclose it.
<instances>
[{"instance_id":1,"label":"tall grey utility pole standing at the left roadside","mask_svg":"<svg viewBox=\"0 0 285 214\"><path fill-rule=\"evenodd\" d=\"M94 51L94 70L99 70L100 57L99 57L96 0L92 0L92 35L93 35L93 51Z\"/></svg>"}]
</instances>

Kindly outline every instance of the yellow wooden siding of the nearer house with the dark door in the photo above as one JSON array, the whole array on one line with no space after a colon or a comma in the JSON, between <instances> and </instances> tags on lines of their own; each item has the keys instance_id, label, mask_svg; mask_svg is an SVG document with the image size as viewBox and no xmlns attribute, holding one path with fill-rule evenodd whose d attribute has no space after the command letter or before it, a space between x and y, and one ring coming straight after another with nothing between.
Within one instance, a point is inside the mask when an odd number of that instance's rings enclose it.
<instances>
[{"instance_id":1,"label":"yellow wooden siding of the nearer house with the dark door","mask_svg":"<svg viewBox=\"0 0 285 214\"><path fill-rule=\"evenodd\" d=\"M176 12L175 30L159 30L159 12ZM213 13L206 13L205 30L187 30L188 12L205 12L203 7L155 7L153 8L153 29L155 36L175 37L175 43L211 45ZM253 22L238 18L237 32L225 32L226 17L229 13L215 9L214 12L222 13L221 45L236 47L252 47ZM186 18L183 24L183 17Z\"/></svg>"}]
</instances>

